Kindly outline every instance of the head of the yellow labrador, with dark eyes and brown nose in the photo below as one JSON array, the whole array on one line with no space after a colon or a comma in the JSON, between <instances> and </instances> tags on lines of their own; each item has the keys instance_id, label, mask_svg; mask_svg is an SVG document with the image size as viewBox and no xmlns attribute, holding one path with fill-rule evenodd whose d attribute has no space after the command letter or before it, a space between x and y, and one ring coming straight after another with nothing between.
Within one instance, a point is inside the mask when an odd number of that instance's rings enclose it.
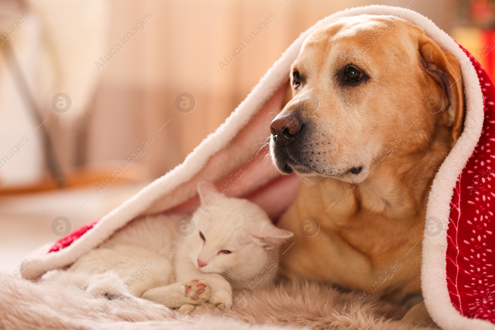
<instances>
[{"instance_id":1,"label":"head of the yellow labrador, with dark eyes and brown nose","mask_svg":"<svg viewBox=\"0 0 495 330\"><path fill-rule=\"evenodd\" d=\"M308 183L354 183L398 142L420 152L441 127L453 145L463 120L460 77L455 57L405 20L335 20L306 39L291 67L292 99L271 123L272 158Z\"/></svg>"}]
</instances>

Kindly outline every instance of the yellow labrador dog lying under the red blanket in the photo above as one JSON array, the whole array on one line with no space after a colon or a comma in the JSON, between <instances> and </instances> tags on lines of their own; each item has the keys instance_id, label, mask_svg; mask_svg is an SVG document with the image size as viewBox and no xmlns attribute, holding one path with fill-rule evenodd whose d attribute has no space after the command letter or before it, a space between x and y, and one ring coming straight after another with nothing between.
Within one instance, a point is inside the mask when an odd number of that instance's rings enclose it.
<instances>
[{"instance_id":1,"label":"yellow labrador dog lying under the red blanket","mask_svg":"<svg viewBox=\"0 0 495 330\"><path fill-rule=\"evenodd\" d=\"M296 234L285 275L362 300L420 293L430 186L462 130L458 61L403 19L362 15L312 33L290 76L270 142L302 181L279 222Z\"/></svg>"}]
</instances>

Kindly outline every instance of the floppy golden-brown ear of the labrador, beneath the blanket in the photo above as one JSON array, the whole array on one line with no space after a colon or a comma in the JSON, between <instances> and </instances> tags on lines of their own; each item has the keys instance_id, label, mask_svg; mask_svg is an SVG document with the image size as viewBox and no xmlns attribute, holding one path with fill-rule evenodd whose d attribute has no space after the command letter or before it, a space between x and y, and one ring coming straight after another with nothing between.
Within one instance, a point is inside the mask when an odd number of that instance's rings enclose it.
<instances>
[{"instance_id":1,"label":"floppy golden-brown ear of the labrador, beneath the blanket","mask_svg":"<svg viewBox=\"0 0 495 330\"><path fill-rule=\"evenodd\" d=\"M418 47L420 61L425 69L437 75L444 85L448 97L447 125L452 126L450 143L453 146L462 133L464 122L464 89L459 61L425 35L419 37Z\"/></svg>"}]
</instances>

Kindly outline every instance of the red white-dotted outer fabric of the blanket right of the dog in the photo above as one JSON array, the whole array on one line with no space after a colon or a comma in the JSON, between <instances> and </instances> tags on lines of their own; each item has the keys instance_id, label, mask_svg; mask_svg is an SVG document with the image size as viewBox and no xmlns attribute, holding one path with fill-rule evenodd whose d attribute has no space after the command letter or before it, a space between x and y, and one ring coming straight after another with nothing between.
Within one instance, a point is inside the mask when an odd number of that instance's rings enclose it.
<instances>
[{"instance_id":1,"label":"red white-dotted outer fabric of the blanket right of the dog","mask_svg":"<svg viewBox=\"0 0 495 330\"><path fill-rule=\"evenodd\" d=\"M495 323L495 89L474 56L460 47L478 74L485 120L450 202L447 285L452 305L462 315Z\"/></svg>"}]
</instances>

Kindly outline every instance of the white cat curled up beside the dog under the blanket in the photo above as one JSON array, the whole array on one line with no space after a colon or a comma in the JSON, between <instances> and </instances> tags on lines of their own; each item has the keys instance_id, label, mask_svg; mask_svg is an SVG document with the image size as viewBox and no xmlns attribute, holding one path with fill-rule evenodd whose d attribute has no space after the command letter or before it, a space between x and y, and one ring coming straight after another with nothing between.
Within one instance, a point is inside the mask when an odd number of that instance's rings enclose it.
<instances>
[{"instance_id":1,"label":"white cat curled up beside the dog under the blanket","mask_svg":"<svg viewBox=\"0 0 495 330\"><path fill-rule=\"evenodd\" d=\"M68 269L42 279L94 295L142 297L183 313L200 304L230 307L233 290L271 283L278 248L293 233L275 227L259 206L228 198L212 184L199 183L198 193L193 221L178 215L133 220Z\"/></svg>"}]
</instances>

